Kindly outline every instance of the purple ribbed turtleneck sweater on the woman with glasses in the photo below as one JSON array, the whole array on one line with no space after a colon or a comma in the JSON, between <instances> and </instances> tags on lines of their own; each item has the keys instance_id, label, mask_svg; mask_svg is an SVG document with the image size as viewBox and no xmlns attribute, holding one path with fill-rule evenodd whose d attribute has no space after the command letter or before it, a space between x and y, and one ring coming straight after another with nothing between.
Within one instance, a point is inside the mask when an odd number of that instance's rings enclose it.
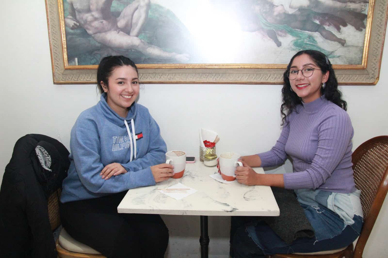
<instances>
[{"instance_id":1,"label":"purple ribbed turtleneck sweater on the woman with glasses","mask_svg":"<svg viewBox=\"0 0 388 258\"><path fill-rule=\"evenodd\" d=\"M258 154L262 167L279 165L289 155L294 173L284 174L284 188L354 192L349 115L324 96L298 105L296 111L287 117L275 146Z\"/></svg>"}]
</instances>

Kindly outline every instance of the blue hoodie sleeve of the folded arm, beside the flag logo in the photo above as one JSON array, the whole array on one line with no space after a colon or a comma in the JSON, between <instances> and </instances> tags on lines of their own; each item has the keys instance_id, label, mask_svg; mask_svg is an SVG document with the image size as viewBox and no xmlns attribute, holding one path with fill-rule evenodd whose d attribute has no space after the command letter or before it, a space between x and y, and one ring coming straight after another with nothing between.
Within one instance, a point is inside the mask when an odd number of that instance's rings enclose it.
<instances>
[{"instance_id":1,"label":"blue hoodie sleeve of the folded arm, beside the flag logo","mask_svg":"<svg viewBox=\"0 0 388 258\"><path fill-rule=\"evenodd\" d=\"M127 171L135 172L142 169L149 169L151 172L151 166L166 162L165 153L167 152L167 146L162 136L160 135L158 124L152 117L149 122L149 128L150 137L147 154L141 158L132 160L132 162L121 164Z\"/></svg>"}]
</instances>

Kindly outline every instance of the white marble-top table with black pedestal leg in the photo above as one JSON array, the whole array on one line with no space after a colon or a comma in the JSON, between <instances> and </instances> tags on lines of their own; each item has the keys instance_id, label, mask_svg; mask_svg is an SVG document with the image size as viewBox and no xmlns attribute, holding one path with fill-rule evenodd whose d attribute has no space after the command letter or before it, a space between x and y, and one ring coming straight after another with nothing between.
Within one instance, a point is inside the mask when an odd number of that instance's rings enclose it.
<instances>
[{"instance_id":1,"label":"white marble-top table with black pedestal leg","mask_svg":"<svg viewBox=\"0 0 388 258\"><path fill-rule=\"evenodd\" d=\"M254 170L264 174L262 168ZM237 181L223 184L209 176L214 173L217 167L206 167L200 161L187 163L179 179L128 190L117 210L119 213L200 215L201 257L208 257L207 216L279 216L279 207L269 186L245 186ZM157 191L178 182L196 189L197 193L175 200Z\"/></svg>"}]
</instances>

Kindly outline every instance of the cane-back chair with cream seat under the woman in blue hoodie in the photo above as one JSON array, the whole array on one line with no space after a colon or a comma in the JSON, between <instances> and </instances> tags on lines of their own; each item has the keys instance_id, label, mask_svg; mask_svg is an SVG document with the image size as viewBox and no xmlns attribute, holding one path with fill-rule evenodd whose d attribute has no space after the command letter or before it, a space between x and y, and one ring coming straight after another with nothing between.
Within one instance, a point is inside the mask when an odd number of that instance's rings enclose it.
<instances>
[{"instance_id":1,"label":"cane-back chair with cream seat under the woman in blue hoodie","mask_svg":"<svg viewBox=\"0 0 388 258\"><path fill-rule=\"evenodd\" d=\"M61 189L52 193L48 199L49 219L51 229L55 230L61 225L59 217L59 199ZM106 258L98 251L82 244L71 237L64 228L62 228L59 238L55 242L59 258Z\"/></svg>"}]
</instances>

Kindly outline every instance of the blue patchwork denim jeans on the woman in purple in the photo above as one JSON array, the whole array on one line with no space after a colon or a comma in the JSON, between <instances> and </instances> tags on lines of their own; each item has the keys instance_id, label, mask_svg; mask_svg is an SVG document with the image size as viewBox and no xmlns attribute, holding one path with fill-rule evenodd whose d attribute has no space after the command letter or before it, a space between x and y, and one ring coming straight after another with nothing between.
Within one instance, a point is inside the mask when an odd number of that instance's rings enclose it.
<instances>
[{"instance_id":1,"label":"blue patchwork denim jeans on the woman in purple","mask_svg":"<svg viewBox=\"0 0 388 258\"><path fill-rule=\"evenodd\" d=\"M287 244L260 217L232 217L230 255L251 258L326 251L346 247L359 236L363 224L359 190L348 194L308 189L295 192L314 228L314 237L296 238Z\"/></svg>"}]
</instances>

